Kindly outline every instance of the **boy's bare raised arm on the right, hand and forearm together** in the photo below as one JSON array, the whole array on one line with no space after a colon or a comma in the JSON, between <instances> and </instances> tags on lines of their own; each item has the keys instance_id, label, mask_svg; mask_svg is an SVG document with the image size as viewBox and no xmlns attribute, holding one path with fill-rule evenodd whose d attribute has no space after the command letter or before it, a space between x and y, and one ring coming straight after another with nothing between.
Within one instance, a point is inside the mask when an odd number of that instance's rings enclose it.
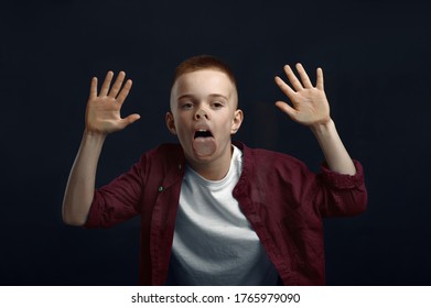
<instances>
[{"instance_id":1,"label":"boy's bare raised arm on the right, hand and forearm together","mask_svg":"<svg viewBox=\"0 0 431 308\"><path fill-rule=\"evenodd\" d=\"M356 168L330 116L330 105L323 87L322 68L317 68L315 87L311 84L301 64L297 64L297 70L301 80L297 78L289 65L284 66L285 75L293 88L280 77L276 77L276 84L292 103L290 106L284 101L277 101L276 106L293 121L312 130L332 170L354 175Z\"/></svg>"}]
</instances>

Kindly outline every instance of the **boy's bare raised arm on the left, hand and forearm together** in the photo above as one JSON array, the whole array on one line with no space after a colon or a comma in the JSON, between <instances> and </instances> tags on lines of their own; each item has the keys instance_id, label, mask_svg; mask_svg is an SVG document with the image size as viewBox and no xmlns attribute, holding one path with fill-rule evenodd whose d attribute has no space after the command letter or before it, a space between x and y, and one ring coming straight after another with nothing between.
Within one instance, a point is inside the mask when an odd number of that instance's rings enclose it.
<instances>
[{"instance_id":1,"label":"boy's bare raised arm on the left, hand and forearm together","mask_svg":"<svg viewBox=\"0 0 431 308\"><path fill-rule=\"evenodd\" d=\"M129 91L131 80L125 84L126 74L120 72L112 84L114 73L108 72L97 94L97 78L91 79L85 114L85 131L75 162L72 166L63 199L63 221L83 226L93 201L97 163L105 139L137 121L139 114L121 119L120 110Z\"/></svg>"}]
</instances>

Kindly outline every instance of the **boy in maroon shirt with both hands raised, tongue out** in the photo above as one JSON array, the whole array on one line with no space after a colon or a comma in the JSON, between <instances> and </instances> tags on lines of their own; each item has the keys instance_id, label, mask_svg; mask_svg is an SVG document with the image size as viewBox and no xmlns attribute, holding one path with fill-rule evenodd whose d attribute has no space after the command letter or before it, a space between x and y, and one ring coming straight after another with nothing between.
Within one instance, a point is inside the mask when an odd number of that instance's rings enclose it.
<instances>
[{"instance_id":1,"label":"boy in maroon shirt with both hands raised, tongue out","mask_svg":"<svg viewBox=\"0 0 431 308\"><path fill-rule=\"evenodd\" d=\"M164 144L110 184L95 190L103 143L139 119L120 117L131 80L109 72L97 94L93 78L83 141L63 201L68 224L109 228L141 215L143 285L322 285L322 218L357 215L367 193L330 117L317 69L313 87L298 64L293 88L276 84L292 106L277 107L309 127L326 163L315 175L300 161L231 142L243 122L230 69L195 56L175 70L168 129L180 144Z\"/></svg>"}]
</instances>

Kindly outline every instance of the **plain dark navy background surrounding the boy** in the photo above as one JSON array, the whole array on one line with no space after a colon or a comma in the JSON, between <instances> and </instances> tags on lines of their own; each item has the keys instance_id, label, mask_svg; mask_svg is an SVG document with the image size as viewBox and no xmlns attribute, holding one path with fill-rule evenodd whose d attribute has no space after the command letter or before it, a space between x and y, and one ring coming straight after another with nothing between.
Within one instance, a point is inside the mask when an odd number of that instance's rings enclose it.
<instances>
[{"instance_id":1,"label":"plain dark navy background surrounding the boy","mask_svg":"<svg viewBox=\"0 0 431 308\"><path fill-rule=\"evenodd\" d=\"M332 117L366 172L368 210L325 221L327 284L430 285L431 22L427 1L9 1L0 7L1 285L136 285L139 220L67 227L61 206L89 80L123 69L123 114L97 184L174 141L164 125L174 67L213 54L234 69L249 146L317 170L312 133L273 102L284 64L323 67Z\"/></svg>"}]
</instances>

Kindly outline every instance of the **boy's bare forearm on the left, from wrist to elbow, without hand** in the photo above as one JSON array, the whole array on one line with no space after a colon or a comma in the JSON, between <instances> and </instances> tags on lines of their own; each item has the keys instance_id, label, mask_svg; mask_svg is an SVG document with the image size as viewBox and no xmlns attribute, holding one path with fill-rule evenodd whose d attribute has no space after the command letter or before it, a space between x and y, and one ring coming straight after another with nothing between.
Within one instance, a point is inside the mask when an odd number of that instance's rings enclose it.
<instances>
[{"instance_id":1,"label":"boy's bare forearm on the left, from wrist to elbow, without hand","mask_svg":"<svg viewBox=\"0 0 431 308\"><path fill-rule=\"evenodd\" d=\"M63 220L67 224L83 226L87 220L105 138L101 134L84 132L63 199Z\"/></svg>"}]
</instances>

